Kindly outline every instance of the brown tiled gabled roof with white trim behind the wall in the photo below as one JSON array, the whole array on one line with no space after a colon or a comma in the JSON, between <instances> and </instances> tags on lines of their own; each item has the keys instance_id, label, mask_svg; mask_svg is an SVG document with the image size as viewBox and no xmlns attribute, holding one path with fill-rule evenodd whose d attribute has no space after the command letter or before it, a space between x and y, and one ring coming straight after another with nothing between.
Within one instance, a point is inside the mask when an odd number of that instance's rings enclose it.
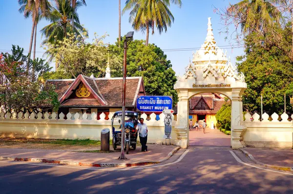
<instances>
[{"instance_id":1,"label":"brown tiled gabled roof with white trim behind the wall","mask_svg":"<svg viewBox=\"0 0 293 194\"><path fill-rule=\"evenodd\" d=\"M91 78L79 75L76 79L47 80L55 86L61 107L121 107L123 78ZM81 84L90 91L88 97L77 97ZM126 107L134 107L138 95L145 95L142 77L126 78Z\"/></svg>"}]
</instances>

